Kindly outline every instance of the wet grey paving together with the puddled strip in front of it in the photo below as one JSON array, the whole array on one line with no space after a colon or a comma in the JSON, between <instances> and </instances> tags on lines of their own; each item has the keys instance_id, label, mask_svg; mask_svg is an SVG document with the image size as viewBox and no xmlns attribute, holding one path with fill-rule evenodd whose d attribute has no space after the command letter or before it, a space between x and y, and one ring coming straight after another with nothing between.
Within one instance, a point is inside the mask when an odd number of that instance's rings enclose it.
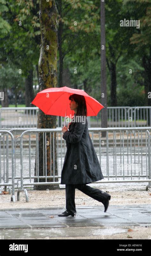
<instances>
[{"instance_id":1,"label":"wet grey paving together with the puddled strip in front of it","mask_svg":"<svg viewBox=\"0 0 151 256\"><path fill-rule=\"evenodd\" d=\"M151 226L151 205L76 207L76 217L59 217L63 208L0 211L2 239L89 237L127 232L130 226ZM48 237L48 238L47 238Z\"/></svg>"}]
</instances>

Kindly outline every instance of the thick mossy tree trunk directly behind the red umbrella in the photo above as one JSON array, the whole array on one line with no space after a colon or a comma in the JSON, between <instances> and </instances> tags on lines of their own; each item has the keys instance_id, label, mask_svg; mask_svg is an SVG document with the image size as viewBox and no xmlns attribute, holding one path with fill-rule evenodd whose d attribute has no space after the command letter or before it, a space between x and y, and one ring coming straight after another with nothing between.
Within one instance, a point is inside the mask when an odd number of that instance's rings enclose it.
<instances>
[{"instance_id":1,"label":"thick mossy tree trunk directly behind the red umbrella","mask_svg":"<svg viewBox=\"0 0 151 256\"><path fill-rule=\"evenodd\" d=\"M39 88L40 91L57 86L57 15L58 11L55 1L40 0L40 29L41 29L41 45L39 59ZM37 128L56 128L56 116L45 115L40 109L38 112ZM50 167L52 166L52 175L58 175L57 172L57 154L56 154L56 132L54 133L54 159L53 159L53 134L46 133L46 155L43 149L43 134L38 135L39 141L39 176L50 176ZM50 143L52 151L50 152ZM43 157L44 153L44 157ZM51 154L51 162L50 162ZM47 159L47 164L45 160ZM54 166L54 167L53 167ZM47 171L46 171L47 169ZM44 170L44 174L43 174ZM36 159L35 159L35 175L36 175ZM53 178L48 178L47 182L53 182ZM58 179L55 178L55 181ZM37 179L34 179L37 182ZM40 178L39 182L45 182L45 179ZM40 185L34 186L37 190L59 189L59 185Z\"/></svg>"}]
</instances>

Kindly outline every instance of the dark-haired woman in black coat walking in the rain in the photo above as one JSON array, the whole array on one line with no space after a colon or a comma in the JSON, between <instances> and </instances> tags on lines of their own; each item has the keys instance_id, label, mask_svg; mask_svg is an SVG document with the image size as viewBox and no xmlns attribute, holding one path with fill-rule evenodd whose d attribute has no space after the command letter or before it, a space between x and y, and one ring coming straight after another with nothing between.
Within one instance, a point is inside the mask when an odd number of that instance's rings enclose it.
<instances>
[{"instance_id":1,"label":"dark-haired woman in black coat walking in the rain","mask_svg":"<svg viewBox=\"0 0 151 256\"><path fill-rule=\"evenodd\" d=\"M70 95L69 100L70 109L74 110L75 114L72 122L69 123L69 130L65 126L62 128L63 139L66 140L67 145L61 172L61 184L66 185L66 211L58 216L76 216L76 188L102 202L106 212L111 196L86 185L104 179L89 135L86 101L84 96L78 94Z\"/></svg>"}]
</instances>

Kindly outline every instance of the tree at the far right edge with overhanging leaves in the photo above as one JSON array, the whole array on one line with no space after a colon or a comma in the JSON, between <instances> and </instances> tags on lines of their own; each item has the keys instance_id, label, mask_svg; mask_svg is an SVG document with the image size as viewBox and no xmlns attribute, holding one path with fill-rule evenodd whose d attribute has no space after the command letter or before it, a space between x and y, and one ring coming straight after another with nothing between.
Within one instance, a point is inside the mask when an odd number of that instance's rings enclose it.
<instances>
[{"instance_id":1,"label":"tree at the far right edge with overhanging leaves","mask_svg":"<svg viewBox=\"0 0 151 256\"><path fill-rule=\"evenodd\" d=\"M151 99L148 98L148 92L151 92L151 2L150 0L136 0L133 5L134 8L142 10L141 13L137 14L138 19L140 19L140 29L135 31L130 41L135 46L135 51L139 52L142 61L145 103L151 106Z\"/></svg>"}]
</instances>

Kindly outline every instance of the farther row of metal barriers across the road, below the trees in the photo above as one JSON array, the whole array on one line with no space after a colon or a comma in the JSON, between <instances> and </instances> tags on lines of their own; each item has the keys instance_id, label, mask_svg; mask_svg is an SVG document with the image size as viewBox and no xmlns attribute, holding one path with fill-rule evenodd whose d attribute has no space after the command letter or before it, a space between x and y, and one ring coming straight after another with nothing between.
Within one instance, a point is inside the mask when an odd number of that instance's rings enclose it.
<instances>
[{"instance_id":1,"label":"farther row of metal barriers across the road, below the trees","mask_svg":"<svg viewBox=\"0 0 151 256\"><path fill-rule=\"evenodd\" d=\"M37 107L0 108L0 129L36 128ZM57 127L59 126L59 117ZM107 107L108 127L151 126L151 107ZM87 117L89 127L101 127L101 111L95 117ZM61 117L61 127L64 117Z\"/></svg>"}]
</instances>

